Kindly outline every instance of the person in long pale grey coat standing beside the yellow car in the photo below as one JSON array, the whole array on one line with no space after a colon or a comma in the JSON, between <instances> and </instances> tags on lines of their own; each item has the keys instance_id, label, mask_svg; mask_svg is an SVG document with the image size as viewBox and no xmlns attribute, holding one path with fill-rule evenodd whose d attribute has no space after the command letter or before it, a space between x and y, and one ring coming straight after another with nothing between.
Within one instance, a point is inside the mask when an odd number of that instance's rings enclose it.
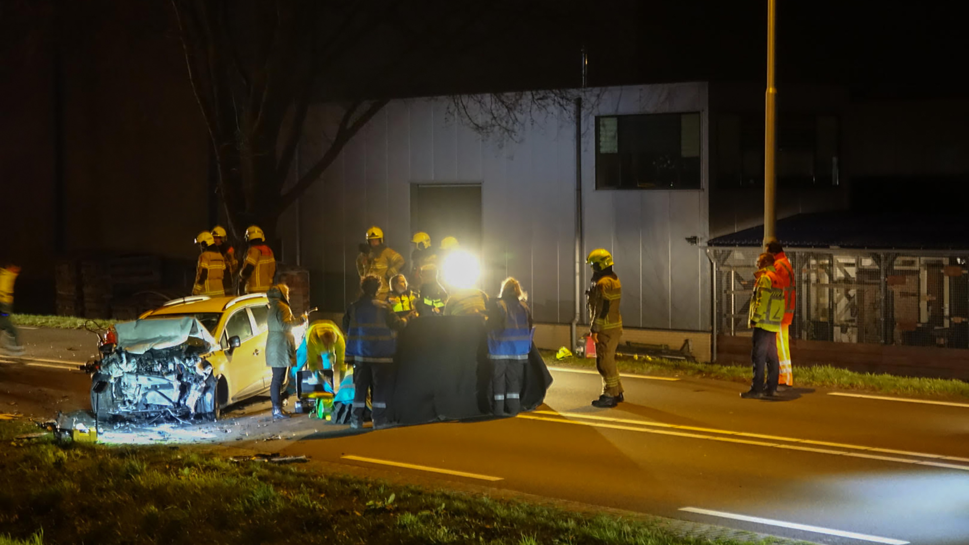
<instances>
[{"instance_id":1,"label":"person in long pale grey coat standing beside the yellow car","mask_svg":"<svg viewBox=\"0 0 969 545\"><path fill-rule=\"evenodd\" d=\"M283 379L291 366L297 363L297 343L293 337L293 328L306 323L306 314L299 318L290 310L290 287L286 284L276 284L266 291L269 299L269 315L266 319L268 334L266 335L266 367L272 368L272 383L269 386L269 397L272 400L272 418L289 418L283 412L279 401Z\"/></svg>"}]
</instances>

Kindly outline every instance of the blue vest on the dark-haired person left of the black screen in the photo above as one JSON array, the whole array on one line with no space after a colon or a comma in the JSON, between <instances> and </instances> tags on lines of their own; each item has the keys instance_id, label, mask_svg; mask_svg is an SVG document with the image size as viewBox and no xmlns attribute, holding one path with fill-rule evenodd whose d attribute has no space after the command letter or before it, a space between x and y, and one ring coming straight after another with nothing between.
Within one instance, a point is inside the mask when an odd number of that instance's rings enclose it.
<instances>
[{"instance_id":1,"label":"blue vest on the dark-haired person left of the black screen","mask_svg":"<svg viewBox=\"0 0 969 545\"><path fill-rule=\"evenodd\" d=\"M397 334L388 325L391 306L378 300L359 300L347 310L347 360L393 363Z\"/></svg>"}]
</instances>

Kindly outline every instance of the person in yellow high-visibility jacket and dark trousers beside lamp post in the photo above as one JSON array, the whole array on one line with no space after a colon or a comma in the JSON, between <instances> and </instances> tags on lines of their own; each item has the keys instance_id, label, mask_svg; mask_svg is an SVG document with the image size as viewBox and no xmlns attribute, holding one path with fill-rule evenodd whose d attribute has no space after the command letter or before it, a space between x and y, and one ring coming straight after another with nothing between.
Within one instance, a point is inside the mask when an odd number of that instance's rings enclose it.
<instances>
[{"instance_id":1,"label":"person in yellow high-visibility jacket and dark trousers beside lamp post","mask_svg":"<svg viewBox=\"0 0 969 545\"><path fill-rule=\"evenodd\" d=\"M757 259L757 272L754 273L754 293L750 300L750 314L747 327L754 330L751 361L754 366L754 379L750 390L740 394L743 399L760 400L773 398L777 391L777 334L781 331L784 319L784 289L780 278L774 271L774 256L763 253ZM767 383L764 384L764 367L767 368Z\"/></svg>"}]
</instances>

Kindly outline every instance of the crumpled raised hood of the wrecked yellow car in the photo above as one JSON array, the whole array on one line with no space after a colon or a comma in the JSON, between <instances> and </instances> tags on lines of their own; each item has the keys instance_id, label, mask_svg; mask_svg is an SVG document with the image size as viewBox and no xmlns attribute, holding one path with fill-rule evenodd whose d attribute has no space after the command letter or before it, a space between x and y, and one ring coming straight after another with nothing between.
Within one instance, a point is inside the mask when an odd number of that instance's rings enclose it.
<instances>
[{"instance_id":1,"label":"crumpled raised hood of the wrecked yellow car","mask_svg":"<svg viewBox=\"0 0 969 545\"><path fill-rule=\"evenodd\" d=\"M218 349L215 337L192 316L122 322L114 325L114 331L117 332L118 348L131 354L144 354L152 348L171 348L184 344L189 338L196 338L207 344L206 352Z\"/></svg>"}]
</instances>

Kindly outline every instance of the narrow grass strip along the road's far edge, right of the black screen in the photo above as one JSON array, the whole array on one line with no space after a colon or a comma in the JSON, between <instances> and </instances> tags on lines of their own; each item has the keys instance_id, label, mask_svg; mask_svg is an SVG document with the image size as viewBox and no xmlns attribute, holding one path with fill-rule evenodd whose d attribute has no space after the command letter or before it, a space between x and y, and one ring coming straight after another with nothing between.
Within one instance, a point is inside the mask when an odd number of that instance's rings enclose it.
<instances>
[{"instance_id":1,"label":"narrow grass strip along the road's far edge, right of the black screen","mask_svg":"<svg viewBox=\"0 0 969 545\"><path fill-rule=\"evenodd\" d=\"M542 351L549 366L566 366L595 369L592 359L569 357L556 360L555 353ZM616 360L620 372L652 374L656 376L699 376L732 382L749 383L750 366L701 364L674 360ZM795 386L860 390L895 396L919 398L944 398L969 401L969 382L949 378L921 378L896 376L885 373L858 372L831 366L795 367Z\"/></svg>"}]
</instances>

